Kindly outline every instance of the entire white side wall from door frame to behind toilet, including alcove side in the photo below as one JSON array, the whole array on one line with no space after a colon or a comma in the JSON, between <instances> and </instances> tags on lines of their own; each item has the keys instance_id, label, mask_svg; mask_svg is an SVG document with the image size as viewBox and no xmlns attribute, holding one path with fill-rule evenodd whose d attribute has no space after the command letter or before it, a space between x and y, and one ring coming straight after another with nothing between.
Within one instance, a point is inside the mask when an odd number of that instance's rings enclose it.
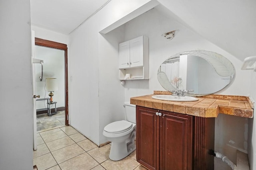
<instances>
[{"instance_id":1,"label":"entire white side wall from door frame to behind toilet, including alcove side","mask_svg":"<svg viewBox=\"0 0 256 170\"><path fill-rule=\"evenodd\" d=\"M124 118L116 60L122 28L106 35L99 32L148 1L110 1L70 34L70 125L97 145L107 142L104 126Z\"/></svg>"}]
</instances>

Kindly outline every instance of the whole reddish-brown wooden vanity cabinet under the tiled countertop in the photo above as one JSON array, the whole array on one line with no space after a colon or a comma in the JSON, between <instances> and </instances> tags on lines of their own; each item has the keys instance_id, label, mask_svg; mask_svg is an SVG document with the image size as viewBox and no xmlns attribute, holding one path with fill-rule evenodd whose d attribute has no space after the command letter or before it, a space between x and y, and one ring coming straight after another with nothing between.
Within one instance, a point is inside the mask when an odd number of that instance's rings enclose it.
<instances>
[{"instance_id":1,"label":"whole reddish-brown wooden vanity cabinet under the tiled countertop","mask_svg":"<svg viewBox=\"0 0 256 170\"><path fill-rule=\"evenodd\" d=\"M205 123L211 127L202 127ZM214 118L136 106L136 127L136 158L144 167L150 170L214 169L214 157L209 154L214 149Z\"/></svg>"}]
</instances>

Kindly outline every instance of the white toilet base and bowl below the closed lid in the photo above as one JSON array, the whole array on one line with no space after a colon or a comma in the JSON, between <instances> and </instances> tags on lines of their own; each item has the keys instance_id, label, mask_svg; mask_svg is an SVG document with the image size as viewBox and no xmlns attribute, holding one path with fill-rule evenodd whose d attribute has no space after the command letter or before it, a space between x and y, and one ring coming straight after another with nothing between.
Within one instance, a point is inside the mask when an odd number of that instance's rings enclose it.
<instances>
[{"instance_id":1,"label":"white toilet base and bowl below the closed lid","mask_svg":"<svg viewBox=\"0 0 256 170\"><path fill-rule=\"evenodd\" d=\"M128 138L130 139L130 141L126 140L123 142L112 142L109 158L111 160L117 161L125 158L130 153L132 153L136 149L136 145L134 141L135 137L136 137L136 131L133 131L130 137Z\"/></svg>"}]
</instances>

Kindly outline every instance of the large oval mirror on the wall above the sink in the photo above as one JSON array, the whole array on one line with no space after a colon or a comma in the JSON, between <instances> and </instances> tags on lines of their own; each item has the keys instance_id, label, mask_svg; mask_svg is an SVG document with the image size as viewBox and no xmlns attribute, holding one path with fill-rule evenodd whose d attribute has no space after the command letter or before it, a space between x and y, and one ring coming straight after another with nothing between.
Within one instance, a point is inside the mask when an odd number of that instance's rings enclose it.
<instances>
[{"instance_id":1,"label":"large oval mirror on the wall above the sink","mask_svg":"<svg viewBox=\"0 0 256 170\"><path fill-rule=\"evenodd\" d=\"M211 51L186 51L168 58L157 78L168 90L192 90L186 96L204 96L222 90L234 78L233 64Z\"/></svg>"}]
</instances>

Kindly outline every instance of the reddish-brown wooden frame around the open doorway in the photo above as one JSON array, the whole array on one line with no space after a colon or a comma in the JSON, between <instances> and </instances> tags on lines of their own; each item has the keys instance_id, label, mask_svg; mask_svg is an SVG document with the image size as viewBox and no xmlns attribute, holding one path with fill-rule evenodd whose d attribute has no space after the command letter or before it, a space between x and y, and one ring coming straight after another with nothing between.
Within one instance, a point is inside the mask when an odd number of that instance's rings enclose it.
<instances>
[{"instance_id":1,"label":"reddish-brown wooden frame around the open doorway","mask_svg":"<svg viewBox=\"0 0 256 170\"><path fill-rule=\"evenodd\" d=\"M35 45L64 50L65 55L65 125L68 124L68 47L66 44L40 39L35 37Z\"/></svg>"}]
</instances>

